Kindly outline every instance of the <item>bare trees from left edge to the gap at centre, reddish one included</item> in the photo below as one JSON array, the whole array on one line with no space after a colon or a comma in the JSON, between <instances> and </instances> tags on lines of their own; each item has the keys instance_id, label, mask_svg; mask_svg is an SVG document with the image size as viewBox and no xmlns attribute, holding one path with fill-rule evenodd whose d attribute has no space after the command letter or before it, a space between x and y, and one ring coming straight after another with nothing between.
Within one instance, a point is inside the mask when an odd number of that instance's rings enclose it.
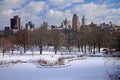
<instances>
[{"instance_id":1,"label":"bare trees from left edge to the gap at centre, reddish one included","mask_svg":"<svg viewBox=\"0 0 120 80\"><path fill-rule=\"evenodd\" d=\"M0 36L0 49L3 52L11 50L12 54L14 51L14 46L23 47L24 53L28 48L33 49L34 47L39 47L40 54L42 54L43 46L54 46L55 54L57 50L62 46L65 40L65 36L60 30L53 29L47 30L44 28L35 29L34 31L19 30L16 33L11 33L6 36L2 34Z\"/></svg>"}]
</instances>

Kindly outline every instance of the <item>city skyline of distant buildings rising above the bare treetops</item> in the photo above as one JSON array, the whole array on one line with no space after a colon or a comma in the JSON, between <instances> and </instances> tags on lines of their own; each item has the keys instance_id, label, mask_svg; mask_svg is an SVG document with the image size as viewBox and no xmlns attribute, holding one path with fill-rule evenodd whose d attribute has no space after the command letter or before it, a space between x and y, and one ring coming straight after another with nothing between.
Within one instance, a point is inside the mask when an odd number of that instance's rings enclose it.
<instances>
[{"instance_id":1,"label":"city skyline of distant buildings rising above the bare treetops","mask_svg":"<svg viewBox=\"0 0 120 80\"><path fill-rule=\"evenodd\" d=\"M113 24L111 21L108 24L106 23L95 24L94 22L87 24L87 18L83 15L82 19L79 20L79 16L77 14L73 14L72 21L65 18L65 20L63 20L59 26L49 25L48 22L43 21L40 27L46 28L48 30L68 29L68 30L73 30L73 31L81 31L82 28L86 28L86 29L88 28L90 30L90 28L92 27L92 28L99 28L99 29L106 30L106 31L120 32L120 26ZM35 29L35 25L32 21L27 22L25 26L21 25L21 18L16 15L10 19L10 27L7 26L4 28L4 30L12 30L13 32L16 32L20 29L22 30L26 29L27 31L33 31Z\"/></svg>"}]
</instances>

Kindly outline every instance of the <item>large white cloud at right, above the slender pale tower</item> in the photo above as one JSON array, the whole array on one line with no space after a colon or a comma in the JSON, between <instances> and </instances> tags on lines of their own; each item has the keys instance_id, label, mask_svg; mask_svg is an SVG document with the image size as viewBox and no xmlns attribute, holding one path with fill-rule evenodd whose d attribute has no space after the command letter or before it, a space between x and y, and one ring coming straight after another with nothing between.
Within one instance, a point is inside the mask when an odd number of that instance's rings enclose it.
<instances>
[{"instance_id":1,"label":"large white cloud at right, above the slender pale tower","mask_svg":"<svg viewBox=\"0 0 120 80\"><path fill-rule=\"evenodd\" d=\"M115 8L109 9L105 4L97 5L94 3L88 3L84 5L76 5L72 9L72 11L77 13L80 16L80 19L83 15L85 15L87 17L88 23L93 21L99 24L101 22L103 23L103 22L112 21L113 23L120 25L120 22L118 23L120 19L120 13L119 13L120 9L115 9ZM110 17L112 18L110 19Z\"/></svg>"}]
</instances>

